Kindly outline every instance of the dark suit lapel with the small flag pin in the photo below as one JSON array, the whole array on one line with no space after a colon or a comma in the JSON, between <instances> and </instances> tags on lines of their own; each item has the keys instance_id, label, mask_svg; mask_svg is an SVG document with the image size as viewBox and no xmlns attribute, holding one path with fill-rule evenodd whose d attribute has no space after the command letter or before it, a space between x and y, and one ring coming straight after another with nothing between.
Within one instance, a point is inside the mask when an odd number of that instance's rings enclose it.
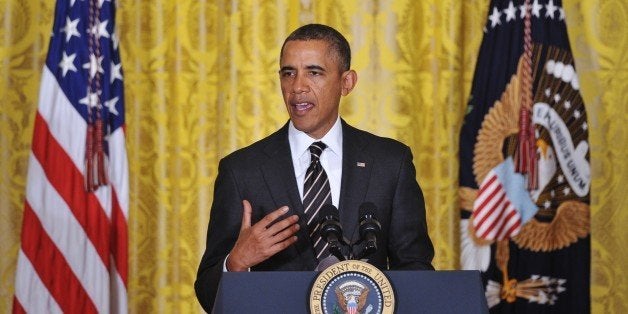
<instances>
[{"instance_id":1,"label":"dark suit lapel with the small flag pin","mask_svg":"<svg viewBox=\"0 0 628 314\"><path fill-rule=\"evenodd\" d=\"M364 202L373 165L366 152L366 139L342 120L342 179L340 184L340 223L351 242L359 238L358 208Z\"/></svg>"}]
</instances>

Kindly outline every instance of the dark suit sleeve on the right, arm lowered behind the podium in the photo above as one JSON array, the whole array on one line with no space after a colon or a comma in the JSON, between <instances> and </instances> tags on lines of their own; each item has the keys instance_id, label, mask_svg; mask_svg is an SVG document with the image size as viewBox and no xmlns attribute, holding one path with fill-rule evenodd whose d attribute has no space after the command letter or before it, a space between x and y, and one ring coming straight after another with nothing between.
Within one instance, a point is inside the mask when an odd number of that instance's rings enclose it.
<instances>
[{"instance_id":1,"label":"dark suit sleeve on the right, arm lowered behind the podium","mask_svg":"<svg viewBox=\"0 0 628 314\"><path fill-rule=\"evenodd\" d=\"M404 146L402 156L392 204L389 267L433 270L434 247L427 232L425 200L416 181L410 148Z\"/></svg>"}]
</instances>

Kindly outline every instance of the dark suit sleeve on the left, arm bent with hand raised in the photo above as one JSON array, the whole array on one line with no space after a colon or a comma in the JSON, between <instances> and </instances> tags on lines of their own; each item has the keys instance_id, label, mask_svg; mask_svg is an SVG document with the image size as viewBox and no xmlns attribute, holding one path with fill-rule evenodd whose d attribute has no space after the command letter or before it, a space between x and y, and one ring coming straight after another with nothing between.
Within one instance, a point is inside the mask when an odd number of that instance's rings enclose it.
<instances>
[{"instance_id":1,"label":"dark suit sleeve on the left, arm bent with hand raised","mask_svg":"<svg viewBox=\"0 0 628 314\"><path fill-rule=\"evenodd\" d=\"M221 160L214 184L207 244L194 283L196 297L208 313L214 305L224 260L238 238L242 212L242 198L235 175L228 163Z\"/></svg>"}]
</instances>

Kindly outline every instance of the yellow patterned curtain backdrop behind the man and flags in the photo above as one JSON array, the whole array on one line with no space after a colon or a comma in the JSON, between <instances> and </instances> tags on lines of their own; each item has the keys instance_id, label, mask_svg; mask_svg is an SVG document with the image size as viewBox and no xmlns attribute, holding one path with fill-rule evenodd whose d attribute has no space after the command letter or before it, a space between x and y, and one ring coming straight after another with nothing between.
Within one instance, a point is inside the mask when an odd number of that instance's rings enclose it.
<instances>
[{"instance_id":1,"label":"yellow patterned curtain backdrop behind the man and flags","mask_svg":"<svg viewBox=\"0 0 628 314\"><path fill-rule=\"evenodd\" d=\"M130 162L129 310L198 312L218 160L287 120L285 36L330 24L353 48L350 123L412 147L437 269L459 266L458 132L488 0L118 1ZM628 312L628 3L564 0L592 160L592 309ZM54 1L0 0L0 312L10 311Z\"/></svg>"}]
</instances>

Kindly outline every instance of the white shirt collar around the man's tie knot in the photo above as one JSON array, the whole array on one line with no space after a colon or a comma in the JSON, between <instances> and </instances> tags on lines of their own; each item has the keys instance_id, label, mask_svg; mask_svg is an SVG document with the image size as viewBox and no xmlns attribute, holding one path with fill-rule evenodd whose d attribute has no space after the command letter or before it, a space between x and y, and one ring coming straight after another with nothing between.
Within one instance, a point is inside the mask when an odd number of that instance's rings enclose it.
<instances>
[{"instance_id":1,"label":"white shirt collar around the man's tie knot","mask_svg":"<svg viewBox=\"0 0 628 314\"><path fill-rule=\"evenodd\" d=\"M329 129L321 139L315 140L305 132L297 130L292 121L288 125L288 141L290 142L290 152L292 156L299 158L303 153L308 151L312 143L321 141L327 145L334 154L342 156L342 123L340 116L336 119L334 125Z\"/></svg>"}]
</instances>

